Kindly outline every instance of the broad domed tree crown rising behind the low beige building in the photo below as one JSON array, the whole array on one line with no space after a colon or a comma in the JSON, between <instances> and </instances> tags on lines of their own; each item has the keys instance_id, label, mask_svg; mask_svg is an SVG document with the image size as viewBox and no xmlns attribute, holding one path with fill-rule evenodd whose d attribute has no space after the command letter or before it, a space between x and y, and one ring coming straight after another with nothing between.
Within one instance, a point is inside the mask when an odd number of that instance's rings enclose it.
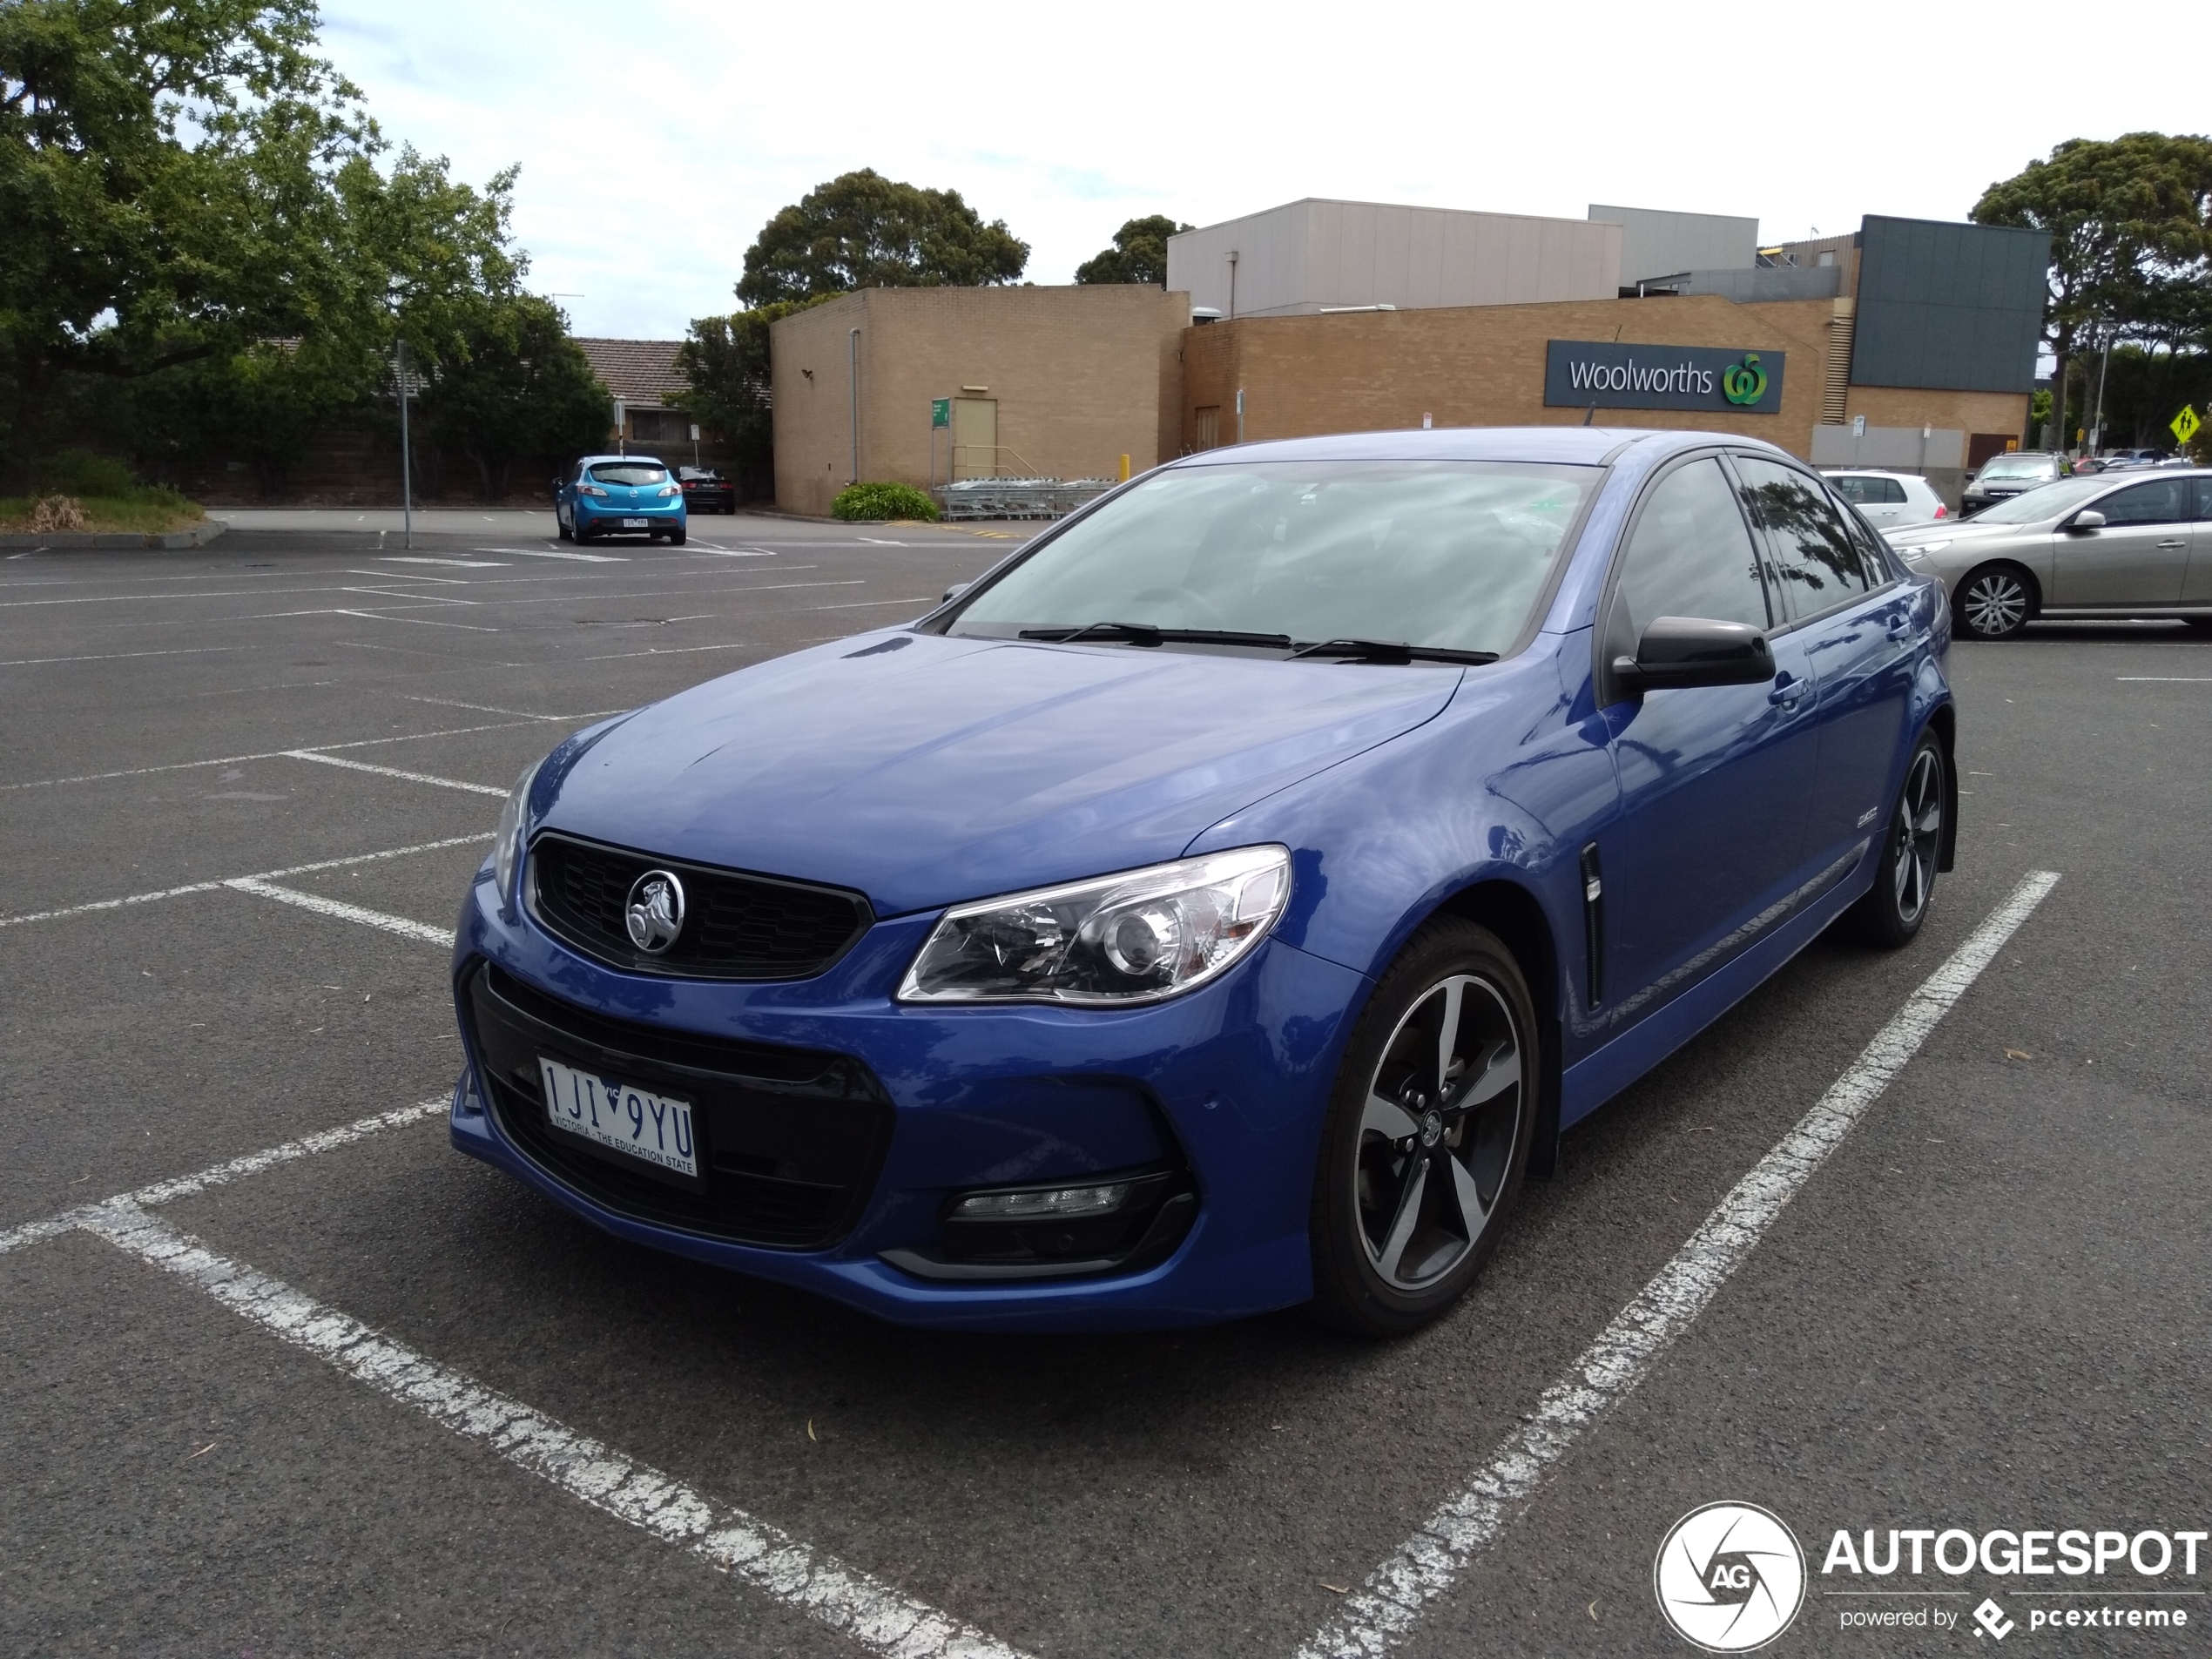
<instances>
[{"instance_id":1,"label":"broad domed tree crown rising behind the low beige building","mask_svg":"<svg viewBox=\"0 0 2212 1659\"><path fill-rule=\"evenodd\" d=\"M984 223L958 190L863 168L814 186L761 228L737 296L759 307L856 288L971 288L1011 283L1026 265L1029 243L1004 219Z\"/></svg>"}]
</instances>

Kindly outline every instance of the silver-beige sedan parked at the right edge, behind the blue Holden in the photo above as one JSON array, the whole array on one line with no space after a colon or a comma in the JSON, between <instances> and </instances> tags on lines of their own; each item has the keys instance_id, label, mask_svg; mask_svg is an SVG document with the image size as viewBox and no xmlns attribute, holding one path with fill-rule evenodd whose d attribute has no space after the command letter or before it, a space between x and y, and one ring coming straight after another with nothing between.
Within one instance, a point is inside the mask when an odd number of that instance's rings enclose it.
<instances>
[{"instance_id":1,"label":"silver-beige sedan parked at the right edge, behind the blue Holden","mask_svg":"<svg viewBox=\"0 0 2212 1659\"><path fill-rule=\"evenodd\" d=\"M1958 524L1889 538L1951 593L1973 639L2037 617L2179 617L2212 628L2212 471L2064 478Z\"/></svg>"}]
</instances>

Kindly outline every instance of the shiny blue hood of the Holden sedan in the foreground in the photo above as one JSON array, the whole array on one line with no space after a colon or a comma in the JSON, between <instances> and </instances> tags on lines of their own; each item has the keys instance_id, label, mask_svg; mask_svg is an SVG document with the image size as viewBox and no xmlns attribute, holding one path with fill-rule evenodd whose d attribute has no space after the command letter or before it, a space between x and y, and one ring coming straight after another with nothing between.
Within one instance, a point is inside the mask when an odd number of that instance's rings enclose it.
<instances>
[{"instance_id":1,"label":"shiny blue hood of the Holden sedan in the foreground","mask_svg":"<svg viewBox=\"0 0 2212 1659\"><path fill-rule=\"evenodd\" d=\"M1175 858L1433 719L1451 666L896 633L739 670L575 757L546 827L858 887L878 916Z\"/></svg>"}]
</instances>

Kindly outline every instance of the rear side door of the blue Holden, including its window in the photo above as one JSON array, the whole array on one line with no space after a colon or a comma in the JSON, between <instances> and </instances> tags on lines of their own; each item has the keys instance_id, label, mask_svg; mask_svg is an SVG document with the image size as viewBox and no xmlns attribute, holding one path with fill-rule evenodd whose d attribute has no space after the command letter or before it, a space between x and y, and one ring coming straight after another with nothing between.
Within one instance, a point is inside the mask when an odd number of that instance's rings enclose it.
<instances>
[{"instance_id":1,"label":"rear side door of the blue Holden, including its window","mask_svg":"<svg viewBox=\"0 0 2212 1659\"><path fill-rule=\"evenodd\" d=\"M1891 577L1880 549L1818 480L1767 456L1739 453L1732 465L1765 538L1767 586L1790 613L1781 637L1798 641L1820 688L1801 894L1812 898L1843 880L1882 832L1927 624L1916 591Z\"/></svg>"}]
</instances>

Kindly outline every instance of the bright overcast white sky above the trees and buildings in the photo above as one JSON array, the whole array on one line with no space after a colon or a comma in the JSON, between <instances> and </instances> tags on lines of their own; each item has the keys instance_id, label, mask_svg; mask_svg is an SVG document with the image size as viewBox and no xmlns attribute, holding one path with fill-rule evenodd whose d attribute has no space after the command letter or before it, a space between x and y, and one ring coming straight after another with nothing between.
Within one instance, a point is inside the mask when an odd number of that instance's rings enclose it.
<instances>
[{"instance_id":1,"label":"bright overcast white sky above the trees and buildings","mask_svg":"<svg viewBox=\"0 0 2212 1659\"><path fill-rule=\"evenodd\" d=\"M522 166L531 288L575 332L672 338L734 307L776 208L863 166L1004 219L1037 283L1135 215L1298 197L1759 215L1763 241L1964 219L2059 139L2212 126L2201 9L2112 15L330 0L323 46L394 142L476 184Z\"/></svg>"}]
</instances>

